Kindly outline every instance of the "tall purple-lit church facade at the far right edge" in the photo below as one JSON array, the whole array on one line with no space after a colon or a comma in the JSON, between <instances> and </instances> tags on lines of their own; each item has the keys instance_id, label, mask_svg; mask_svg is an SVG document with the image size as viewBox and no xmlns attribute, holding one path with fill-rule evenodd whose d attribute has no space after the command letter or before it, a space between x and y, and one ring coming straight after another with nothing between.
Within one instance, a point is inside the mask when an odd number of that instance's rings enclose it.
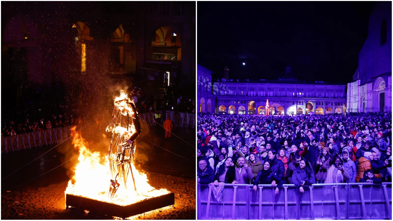
<instances>
[{"instance_id":1,"label":"tall purple-lit church facade at the far right edge","mask_svg":"<svg viewBox=\"0 0 393 221\"><path fill-rule=\"evenodd\" d=\"M347 112L391 111L391 2L378 2L369 17L368 37L358 69L347 87Z\"/></svg>"}]
</instances>

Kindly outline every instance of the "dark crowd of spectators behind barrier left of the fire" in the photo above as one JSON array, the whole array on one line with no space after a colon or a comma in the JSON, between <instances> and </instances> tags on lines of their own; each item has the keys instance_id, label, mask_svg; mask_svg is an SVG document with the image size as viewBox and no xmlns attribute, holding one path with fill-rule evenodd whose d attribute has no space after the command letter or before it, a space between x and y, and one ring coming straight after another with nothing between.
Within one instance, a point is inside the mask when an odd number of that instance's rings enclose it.
<instances>
[{"instance_id":1,"label":"dark crowd of spectators behind barrier left of the fire","mask_svg":"<svg viewBox=\"0 0 393 221\"><path fill-rule=\"evenodd\" d=\"M59 105L52 114L50 110L36 108L31 102L23 111L6 114L2 112L2 137L13 136L33 131L43 131L55 127L77 125L79 109L68 105Z\"/></svg>"}]
</instances>

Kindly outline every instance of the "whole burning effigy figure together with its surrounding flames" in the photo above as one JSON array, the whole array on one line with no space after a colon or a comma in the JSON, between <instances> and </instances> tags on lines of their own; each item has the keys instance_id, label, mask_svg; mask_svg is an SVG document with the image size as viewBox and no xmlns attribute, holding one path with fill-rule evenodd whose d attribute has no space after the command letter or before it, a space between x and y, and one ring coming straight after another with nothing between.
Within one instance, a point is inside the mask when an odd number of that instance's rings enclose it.
<instances>
[{"instance_id":1,"label":"whole burning effigy figure together with its surrounding flames","mask_svg":"<svg viewBox=\"0 0 393 221\"><path fill-rule=\"evenodd\" d=\"M88 143L72 128L72 144L79 149L79 162L68 181L66 194L125 206L169 193L166 189L151 187L146 174L134 166L134 140L138 136L136 126L139 126L135 125L138 117L134 107L134 101L123 90L115 98L114 118L107 127L107 132L112 133L107 154L89 151Z\"/></svg>"}]
</instances>

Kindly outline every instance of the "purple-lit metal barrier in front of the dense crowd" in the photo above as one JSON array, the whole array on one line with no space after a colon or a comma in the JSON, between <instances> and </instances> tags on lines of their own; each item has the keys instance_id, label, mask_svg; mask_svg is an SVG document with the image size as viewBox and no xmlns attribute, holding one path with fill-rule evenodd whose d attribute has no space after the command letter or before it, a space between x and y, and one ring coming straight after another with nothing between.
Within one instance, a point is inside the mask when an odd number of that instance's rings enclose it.
<instances>
[{"instance_id":1,"label":"purple-lit metal barrier in front of the dense crowd","mask_svg":"<svg viewBox=\"0 0 393 221\"><path fill-rule=\"evenodd\" d=\"M283 185L225 184L220 202L211 184L198 184L197 219L392 219L391 182L313 184L297 193Z\"/></svg>"}]
</instances>

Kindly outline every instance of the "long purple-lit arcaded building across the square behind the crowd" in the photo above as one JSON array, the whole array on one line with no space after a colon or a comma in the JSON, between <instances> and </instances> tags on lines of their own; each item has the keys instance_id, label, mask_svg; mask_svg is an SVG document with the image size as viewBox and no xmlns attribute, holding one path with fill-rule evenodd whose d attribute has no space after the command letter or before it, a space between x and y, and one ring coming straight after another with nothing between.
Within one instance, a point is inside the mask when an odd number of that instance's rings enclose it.
<instances>
[{"instance_id":1,"label":"long purple-lit arcaded building across the square behind the crowd","mask_svg":"<svg viewBox=\"0 0 393 221\"><path fill-rule=\"evenodd\" d=\"M211 71L198 65L198 105L200 112L220 114L265 114L269 99L270 114L343 113L345 85L330 85L321 81L307 83L296 80L249 81L222 79L211 84ZM286 68L290 73L290 68ZM208 80L205 80L208 79ZM209 96L211 85L211 94ZM206 88L206 89L205 89ZM202 93L203 91L203 93ZM214 110L208 111L203 101L214 100ZM212 99L214 98L214 99Z\"/></svg>"}]
</instances>

